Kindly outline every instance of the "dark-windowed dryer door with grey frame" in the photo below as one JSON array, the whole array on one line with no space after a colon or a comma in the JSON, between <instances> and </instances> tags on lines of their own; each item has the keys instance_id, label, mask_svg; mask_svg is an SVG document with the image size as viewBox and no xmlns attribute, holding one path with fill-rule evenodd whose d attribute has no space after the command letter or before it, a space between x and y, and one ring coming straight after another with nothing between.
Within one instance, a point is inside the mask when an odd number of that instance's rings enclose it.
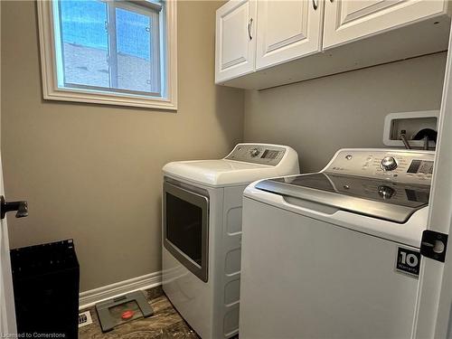
<instances>
[{"instance_id":1,"label":"dark-windowed dryer door with grey frame","mask_svg":"<svg viewBox=\"0 0 452 339\"><path fill-rule=\"evenodd\" d=\"M207 282L209 197L165 181L163 201L165 249Z\"/></svg>"}]
</instances>

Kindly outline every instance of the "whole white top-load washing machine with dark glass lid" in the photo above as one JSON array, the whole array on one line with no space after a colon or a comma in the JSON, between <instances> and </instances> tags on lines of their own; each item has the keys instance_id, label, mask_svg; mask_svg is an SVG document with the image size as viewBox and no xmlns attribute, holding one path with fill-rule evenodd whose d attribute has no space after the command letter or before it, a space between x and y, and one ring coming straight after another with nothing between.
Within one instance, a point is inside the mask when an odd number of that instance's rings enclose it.
<instances>
[{"instance_id":1,"label":"whole white top-load washing machine with dark glass lid","mask_svg":"<svg viewBox=\"0 0 452 339\"><path fill-rule=\"evenodd\" d=\"M410 338L434 153L343 149L250 184L240 339Z\"/></svg>"}]
</instances>

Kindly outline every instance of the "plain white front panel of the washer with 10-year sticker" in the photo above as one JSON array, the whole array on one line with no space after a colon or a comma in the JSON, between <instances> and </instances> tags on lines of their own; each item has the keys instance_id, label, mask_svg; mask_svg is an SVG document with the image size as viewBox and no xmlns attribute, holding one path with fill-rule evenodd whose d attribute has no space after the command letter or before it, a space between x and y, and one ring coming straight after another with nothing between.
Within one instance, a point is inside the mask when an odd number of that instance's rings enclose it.
<instances>
[{"instance_id":1,"label":"plain white front panel of the washer with 10-year sticker","mask_svg":"<svg viewBox=\"0 0 452 339\"><path fill-rule=\"evenodd\" d=\"M249 198L243 225L240 338L410 337L410 247Z\"/></svg>"}]
</instances>

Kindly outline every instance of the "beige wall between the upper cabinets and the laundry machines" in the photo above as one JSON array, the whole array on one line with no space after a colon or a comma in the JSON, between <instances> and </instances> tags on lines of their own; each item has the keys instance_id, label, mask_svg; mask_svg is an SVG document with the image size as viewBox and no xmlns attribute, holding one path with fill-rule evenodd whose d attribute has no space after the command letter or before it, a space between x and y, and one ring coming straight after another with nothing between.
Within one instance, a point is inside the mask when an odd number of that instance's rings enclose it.
<instances>
[{"instance_id":1,"label":"beige wall between the upper cabinets and the laundry machines","mask_svg":"<svg viewBox=\"0 0 452 339\"><path fill-rule=\"evenodd\" d=\"M341 147L381 147L391 112L438 109L446 53L245 95L246 141L293 146L302 172Z\"/></svg>"}]
</instances>

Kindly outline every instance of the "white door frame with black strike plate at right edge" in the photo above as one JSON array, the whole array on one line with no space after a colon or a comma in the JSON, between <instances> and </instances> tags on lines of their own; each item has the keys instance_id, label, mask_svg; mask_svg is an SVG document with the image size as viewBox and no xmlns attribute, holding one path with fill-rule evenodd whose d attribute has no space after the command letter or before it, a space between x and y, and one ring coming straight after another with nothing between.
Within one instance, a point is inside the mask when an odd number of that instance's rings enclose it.
<instances>
[{"instance_id":1,"label":"white door frame with black strike plate at right edge","mask_svg":"<svg viewBox=\"0 0 452 339\"><path fill-rule=\"evenodd\" d=\"M452 234L452 35L449 36L447 64L438 118L428 230ZM448 241L449 243L451 240ZM450 246L449 246L450 247ZM423 257L419 274L418 300L413 324L414 339L447 338L452 306L452 249L441 263Z\"/></svg>"}]
</instances>

